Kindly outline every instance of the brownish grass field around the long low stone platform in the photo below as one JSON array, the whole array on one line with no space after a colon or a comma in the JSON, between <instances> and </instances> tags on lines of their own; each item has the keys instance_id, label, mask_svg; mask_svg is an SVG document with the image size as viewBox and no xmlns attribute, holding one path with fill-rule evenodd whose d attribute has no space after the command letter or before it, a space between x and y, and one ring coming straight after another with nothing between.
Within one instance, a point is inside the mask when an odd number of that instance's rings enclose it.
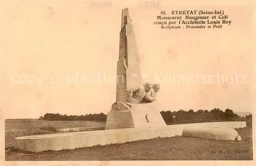
<instances>
[{"instance_id":1,"label":"brownish grass field around the long low stone platform","mask_svg":"<svg viewBox=\"0 0 256 166\"><path fill-rule=\"evenodd\" d=\"M55 133L46 127L82 127L83 121L6 120L5 141L14 137ZM237 129L242 141L215 141L191 137L169 137L94 146L75 150L6 155L6 160L252 160L252 128ZM25 154L25 155L24 155Z\"/></svg>"}]
</instances>

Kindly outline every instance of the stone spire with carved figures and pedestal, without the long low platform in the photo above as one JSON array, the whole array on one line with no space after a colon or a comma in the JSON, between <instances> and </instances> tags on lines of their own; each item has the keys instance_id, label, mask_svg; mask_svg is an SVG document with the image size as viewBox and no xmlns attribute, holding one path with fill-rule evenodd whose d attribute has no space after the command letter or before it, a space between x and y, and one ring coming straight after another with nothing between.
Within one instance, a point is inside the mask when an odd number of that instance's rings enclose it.
<instances>
[{"instance_id":1,"label":"stone spire with carved figures and pedestal, without the long low platform","mask_svg":"<svg viewBox=\"0 0 256 166\"><path fill-rule=\"evenodd\" d=\"M122 10L116 102L108 114L105 129L166 126L154 103L160 86L143 83L136 38L126 8Z\"/></svg>"}]
</instances>

